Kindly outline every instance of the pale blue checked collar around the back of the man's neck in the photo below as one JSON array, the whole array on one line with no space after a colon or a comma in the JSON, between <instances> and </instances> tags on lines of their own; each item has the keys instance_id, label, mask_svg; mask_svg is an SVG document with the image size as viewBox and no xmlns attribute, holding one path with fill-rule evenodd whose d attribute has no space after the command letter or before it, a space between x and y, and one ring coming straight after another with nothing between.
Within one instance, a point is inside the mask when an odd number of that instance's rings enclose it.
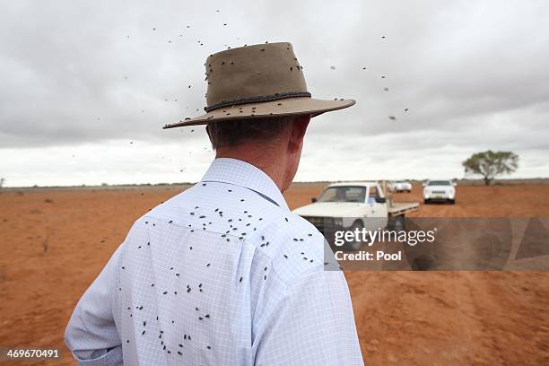
<instances>
[{"instance_id":1,"label":"pale blue checked collar around the back of the man's neck","mask_svg":"<svg viewBox=\"0 0 549 366\"><path fill-rule=\"evenodd\" d=\"M273 179L266 175L263 170L246 161L231 158L214 159L201 181L223 182L246 187L257 192L260 196L265 196L274 204L289 210Z\"/></svg>"}]
</instances>

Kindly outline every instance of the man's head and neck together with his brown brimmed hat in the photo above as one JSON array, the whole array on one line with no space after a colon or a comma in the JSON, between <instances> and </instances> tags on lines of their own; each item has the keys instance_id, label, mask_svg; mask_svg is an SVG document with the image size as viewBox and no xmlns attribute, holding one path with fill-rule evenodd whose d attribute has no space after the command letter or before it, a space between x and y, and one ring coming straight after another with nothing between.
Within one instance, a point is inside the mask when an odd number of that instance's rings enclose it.
<instances>
[{"instance_id":1,"label":"man's head and neck together with his brown brimmed hat","mask_svg":"<svg viewBox=\"0 0 549 366\"><path fill-rule=\"evenodd\" d=\"M314 99L289 42L229 48L206 58L205 114L166 125L207 125L216 157L248 161L285 190L311 117L354 104Z\"/></svg>"}]
</instances>

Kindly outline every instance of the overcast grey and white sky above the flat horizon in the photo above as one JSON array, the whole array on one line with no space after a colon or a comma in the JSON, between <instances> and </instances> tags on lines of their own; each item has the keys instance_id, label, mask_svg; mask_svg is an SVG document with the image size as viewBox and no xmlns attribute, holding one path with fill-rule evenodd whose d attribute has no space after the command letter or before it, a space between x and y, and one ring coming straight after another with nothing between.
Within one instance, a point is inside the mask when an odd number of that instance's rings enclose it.
<instances>
[{"instance_id":1,"label":"overcast grey and white sky above the flat horizon","mask_svg":"<svg viewBox=\"0 0 549 366\"><path fill-rule=\"evenodd\" d=\"M203 112L205 57L267 40L292 42L314 97L357 100L313 119L296 180L461 178L488 149L549 177L545 0L4 0L0 177L200 179L204 126L161 126Z\"/></svg>"}]
</instances>

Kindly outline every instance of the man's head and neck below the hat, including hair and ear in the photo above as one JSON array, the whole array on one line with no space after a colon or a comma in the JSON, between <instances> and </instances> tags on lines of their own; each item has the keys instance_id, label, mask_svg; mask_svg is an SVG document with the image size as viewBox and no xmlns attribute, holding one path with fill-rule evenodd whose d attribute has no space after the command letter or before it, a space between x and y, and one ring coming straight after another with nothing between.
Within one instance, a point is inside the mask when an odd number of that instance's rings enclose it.
<instances>
[{"instance_id":1,"label":"man's head and neck below the hat, including hair and ear","mask_svg":"<svg viewBox=\"0 0 549 366\"><path fill-rule=\"evenodd\" d=\"M297 172L310 115L226 120L207 124L218 158L234 158L266 171L281 189Z\"/></svg>"}]
</instances>

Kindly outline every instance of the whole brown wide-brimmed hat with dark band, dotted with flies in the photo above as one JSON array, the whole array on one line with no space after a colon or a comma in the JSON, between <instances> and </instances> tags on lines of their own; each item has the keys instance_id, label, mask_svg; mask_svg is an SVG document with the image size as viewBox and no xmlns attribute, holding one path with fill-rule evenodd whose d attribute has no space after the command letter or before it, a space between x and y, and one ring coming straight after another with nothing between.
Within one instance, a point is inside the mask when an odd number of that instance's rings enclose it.
<instances>
[{"instance_id":1,"label":"whole brown wide-brimmed hat with dark band, dotted with flies","mask_svg":"<svg viewBox=\"0 0 549 366\"><path fill-rule=\"evenodd\" d=\"M355 103L311 98L303 67L293 53L292 44L286 42L230 48L210 55L205 69L206 113L164 128L231 119L314 117Z\"/></svg>"}]
</instances>

